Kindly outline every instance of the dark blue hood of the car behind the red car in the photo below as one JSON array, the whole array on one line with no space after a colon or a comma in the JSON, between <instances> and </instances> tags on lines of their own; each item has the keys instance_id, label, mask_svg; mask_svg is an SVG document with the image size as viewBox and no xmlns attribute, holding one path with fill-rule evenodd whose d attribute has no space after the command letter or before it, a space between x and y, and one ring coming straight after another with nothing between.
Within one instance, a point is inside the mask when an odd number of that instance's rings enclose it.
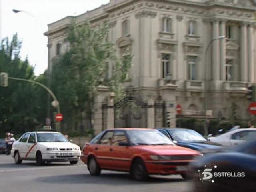
<instances>
[{"instance_id":1,"label":"dark blue hood of the car behind the red car","mask_svg":"<svg viewBox=\"0 0 256 192\"><path fill-rule=\"evenodd\" d=\"M204 142L178 142L179 146L191 148L198 151L203 150L220 150L222 146L220 144L204 141Z\"/></svg>"}]
</instances>

